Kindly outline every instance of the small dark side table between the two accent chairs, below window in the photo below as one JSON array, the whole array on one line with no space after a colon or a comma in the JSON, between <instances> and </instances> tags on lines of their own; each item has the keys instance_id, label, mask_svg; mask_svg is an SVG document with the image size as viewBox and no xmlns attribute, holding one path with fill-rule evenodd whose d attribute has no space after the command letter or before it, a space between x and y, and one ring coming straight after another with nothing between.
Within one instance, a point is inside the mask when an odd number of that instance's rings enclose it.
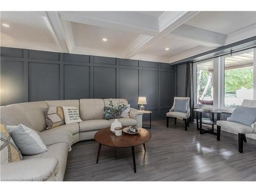
<instances>
[{"instance_id":1,"label":"small dark side table between the two accent chairs, below window","mask_svg":"<svg viewBox=\"0 0 256 192\"><path fill-rule=\"evenodd\" d=\"M212 135L217 135L217 140L220 140L220 130L217 128L217 132L214 130L214 125L217 124L218 120L221 120L221 111L212 110L212 111L204 111L201 109L195 109L196 117L197 117L197 130L200 131L200 134L209 133ZM210 114L210 120L203 121L202 114ZM217 121L215 121L215 114L217 114ZM210 124L211 129L202 129L202 124Z\"/></svg>"}]
</instances>

